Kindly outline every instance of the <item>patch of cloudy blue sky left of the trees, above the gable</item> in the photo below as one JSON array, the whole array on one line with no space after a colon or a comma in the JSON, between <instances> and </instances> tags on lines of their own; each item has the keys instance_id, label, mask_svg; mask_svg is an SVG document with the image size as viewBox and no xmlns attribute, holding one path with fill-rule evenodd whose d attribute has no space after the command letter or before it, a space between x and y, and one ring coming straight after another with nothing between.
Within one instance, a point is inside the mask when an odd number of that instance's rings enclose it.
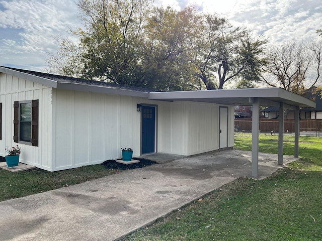
<instances>
[{"instance_id":1,"label":"patch of cloudy blue sky left of the trees, above the gable","mask_svg":"<svg viewBox=\"0 0 322 241\"><path fill-rule=\"evenodd\" d=\"M4 9L0 12L0 28L5 33L0 35L0 59L6 59L1 64L24 64L26 55L32 68L43 68L47 52L57 48L53 36L66 34L68 26L79 26L73 1L14 0L0 1L0 5ZM10 46L6 36L9 30L16 33L16 44Z\"/></svg>"}]
</instances>

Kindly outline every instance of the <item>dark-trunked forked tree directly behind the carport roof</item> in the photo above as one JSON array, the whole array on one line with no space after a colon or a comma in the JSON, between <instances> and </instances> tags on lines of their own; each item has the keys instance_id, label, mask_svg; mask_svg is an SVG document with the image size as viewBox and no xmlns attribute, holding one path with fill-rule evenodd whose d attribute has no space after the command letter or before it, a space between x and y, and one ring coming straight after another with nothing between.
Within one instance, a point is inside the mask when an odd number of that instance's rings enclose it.
<instances>
[{"instance_id":1,"label":"dark-trunked forked tree directly behind the carport roof","mask_svg":"<svg viewBox=\"0 0 322 241\"><path fill-rule=\"evenodd\" d=\"M198 72L196 77L207 89L222 89L226 82L259 81L267 39L253 38L247 29L233 28L225 18L204 17L204 28L193 46Z\"/></svg>"}]
</instances>

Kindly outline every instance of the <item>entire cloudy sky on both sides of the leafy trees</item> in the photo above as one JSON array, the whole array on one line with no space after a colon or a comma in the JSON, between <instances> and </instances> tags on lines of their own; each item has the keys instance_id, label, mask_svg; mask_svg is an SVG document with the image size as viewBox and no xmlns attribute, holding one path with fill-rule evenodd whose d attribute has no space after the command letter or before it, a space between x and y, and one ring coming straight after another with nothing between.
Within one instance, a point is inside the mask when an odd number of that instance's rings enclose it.
<instances>
[{"instance_id":1,"label":"entire cloudy sky on both sides of the leafy trees","mask_svg":"<svg viewBox=\"0 0 322 241\"><path fill-rule=\"evenodd\" d=\"M233 26L248 27L271 43L317 38L322 29L320 0L155 0L177 10L195 4L218 13ZM53 36L81 27L74 0L0 0L0 65L46 72Z\"/></svg>"}]
</instances>

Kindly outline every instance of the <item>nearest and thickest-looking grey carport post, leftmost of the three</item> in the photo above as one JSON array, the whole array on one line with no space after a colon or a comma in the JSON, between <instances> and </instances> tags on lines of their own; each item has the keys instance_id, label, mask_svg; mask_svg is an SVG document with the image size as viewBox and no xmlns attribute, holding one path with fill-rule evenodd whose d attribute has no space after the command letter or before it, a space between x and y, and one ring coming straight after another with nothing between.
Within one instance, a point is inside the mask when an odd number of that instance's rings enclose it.
<instances>
[{"instance_id":1,"label":"nearest and thickest-looking grey carport post, leftmost of the three","mask_svg":"<svg viewBox=\"0 0 322 241\"><path fill-rule=\"evenodd\" d=\"M258 98L253 99L252 118L252 177L257 177L260 130L260 101Z\"/></svg>"}]
</instances>

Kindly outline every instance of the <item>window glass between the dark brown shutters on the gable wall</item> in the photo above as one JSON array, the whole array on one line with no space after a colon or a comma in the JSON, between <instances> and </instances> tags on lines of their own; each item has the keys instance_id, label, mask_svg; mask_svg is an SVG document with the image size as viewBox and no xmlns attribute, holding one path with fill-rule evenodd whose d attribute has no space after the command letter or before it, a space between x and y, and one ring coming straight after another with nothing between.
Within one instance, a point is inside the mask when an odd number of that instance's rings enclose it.
<instances>
[{"instance_id":1,"label":"window glass between the dark brown shutters on the gable wall","mask_svg":"<svg viewBox=\"0 0 322 241\"><path fill-rule=\"evenodd\" d=\"M31 103L20 104L20 141L31 142Z\"/></svg>"}]
</instances>

